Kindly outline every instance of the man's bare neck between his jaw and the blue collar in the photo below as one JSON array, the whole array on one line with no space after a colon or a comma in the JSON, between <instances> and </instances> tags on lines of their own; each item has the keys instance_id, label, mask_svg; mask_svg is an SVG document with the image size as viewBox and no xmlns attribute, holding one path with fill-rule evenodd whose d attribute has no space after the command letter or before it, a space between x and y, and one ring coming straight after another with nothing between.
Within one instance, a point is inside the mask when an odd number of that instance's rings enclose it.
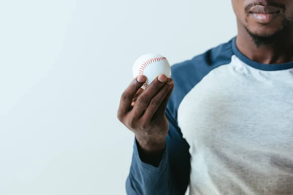
<instances>
[{"instance_id":1,"label":"man's bare neck between his jaw and the blue collar","mask_svg":"<svg viewBox=\"0 0 293 195\"><path fill-rule=\"evenodd\" d=\"M253 61L263 64L286 63L293 61L292 34L280 34L271 44L257 46L247 30L238 24L236 45L242 54Z\"/></svg>"}]
</instances>

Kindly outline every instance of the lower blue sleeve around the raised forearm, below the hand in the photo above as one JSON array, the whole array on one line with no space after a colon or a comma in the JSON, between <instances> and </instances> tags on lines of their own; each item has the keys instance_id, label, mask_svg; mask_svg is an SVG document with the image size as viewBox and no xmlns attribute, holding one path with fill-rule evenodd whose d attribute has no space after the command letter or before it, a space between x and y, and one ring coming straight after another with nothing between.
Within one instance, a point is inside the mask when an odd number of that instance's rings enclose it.
<instances>
[{"instance_id":1,"label":"lower blue sleeve around the raised forearm, below the hand","mask_svg":"<svg viewBox=\"0 0 293 195\"><path fill-rule=\"evenodd\" d=\"M133 147L130 173L126 180L127 195L184 195L189 183L190 156L188 144L168 110L169 132L167 147L159 167L141 161Z\"/></svg>"}]
</instances>

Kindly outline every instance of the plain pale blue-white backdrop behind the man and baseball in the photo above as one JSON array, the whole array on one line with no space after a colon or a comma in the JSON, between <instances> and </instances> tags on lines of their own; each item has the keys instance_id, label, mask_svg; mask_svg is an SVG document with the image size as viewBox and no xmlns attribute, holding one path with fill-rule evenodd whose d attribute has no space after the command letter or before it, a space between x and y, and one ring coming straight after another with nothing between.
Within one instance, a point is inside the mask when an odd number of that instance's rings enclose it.
<instances>
[{"instance_id":1,"label":"plain pale blue-white backdrop behind the man and baseball","mask_svg":"<svg viewBox=\"0 0 293 195\"><path fill-rule=\"evenodd\" d=\"M133 62L235 35L230 0L0 0L0 195L126 195Z\"/></svg>"}]
</instances>

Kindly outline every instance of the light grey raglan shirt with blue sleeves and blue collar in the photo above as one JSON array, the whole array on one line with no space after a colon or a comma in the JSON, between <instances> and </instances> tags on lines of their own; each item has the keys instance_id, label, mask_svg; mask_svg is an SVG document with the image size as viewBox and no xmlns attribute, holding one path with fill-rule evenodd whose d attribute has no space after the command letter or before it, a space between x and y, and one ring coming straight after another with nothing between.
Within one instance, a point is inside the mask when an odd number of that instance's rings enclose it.
<instances>
[{"instance_id":1,"label":"light grey raglan shirt with blue sleeves and blue collar","mask_svg":"<svg viewBox=\"0 0 293 195\"><path fill-rule=\"evenodd\" d=\"M172 66L159 167L136 142L128 195L293 195L293 62L248 59L235 39Z\"/></svg>"}]
</instances>

